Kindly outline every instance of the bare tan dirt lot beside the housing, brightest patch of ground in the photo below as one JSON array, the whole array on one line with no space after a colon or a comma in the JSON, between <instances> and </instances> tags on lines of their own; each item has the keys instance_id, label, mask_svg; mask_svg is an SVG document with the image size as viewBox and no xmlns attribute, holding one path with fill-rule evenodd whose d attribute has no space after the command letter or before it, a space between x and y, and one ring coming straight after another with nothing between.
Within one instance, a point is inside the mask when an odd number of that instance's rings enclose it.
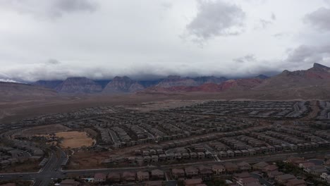
<instances>
[{"instance_id":1,"label":"bare tan dirt lot beside the housing, brightest patch of ground","mask_svg":"<svg viewBox=\"0 0 330 186\"><path fill-rule=\"evenodd\" d=\"M57 132L56 137L63 138L60 146L64 149L90 147L95 142L91 137L88 137L86 132L70 131L70 132Z\"/></svg>"}]
</instances>

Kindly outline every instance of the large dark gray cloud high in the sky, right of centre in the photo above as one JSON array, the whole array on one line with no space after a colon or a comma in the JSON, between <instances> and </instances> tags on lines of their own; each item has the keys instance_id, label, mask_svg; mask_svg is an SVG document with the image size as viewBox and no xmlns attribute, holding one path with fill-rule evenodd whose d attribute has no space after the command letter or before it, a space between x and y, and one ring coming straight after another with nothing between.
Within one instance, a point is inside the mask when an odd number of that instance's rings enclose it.
<instances>
[{"instance_id":1,"label":"large dark gray cloud high in the sky, right of centre","mask_svg":"<svg viewBox=\"0 0 330 186\"><path fill-rule=\"evenodd\" d=\"M216 36L238 35L243 32L245 13L236 4L224 1L198 1L198 12L186 26L188 35L205 41Z\"/></svg>"}]
</instances>

